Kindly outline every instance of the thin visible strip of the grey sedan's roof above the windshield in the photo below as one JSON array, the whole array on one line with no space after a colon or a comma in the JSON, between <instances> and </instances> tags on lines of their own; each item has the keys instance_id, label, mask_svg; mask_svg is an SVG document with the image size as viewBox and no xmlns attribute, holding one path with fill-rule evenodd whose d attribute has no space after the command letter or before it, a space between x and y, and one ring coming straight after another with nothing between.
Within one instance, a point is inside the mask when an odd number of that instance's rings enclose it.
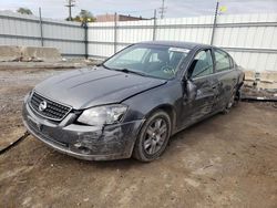
<instances>
[{"instance_id":1,"label":"thin visible strip of the grey sedan's roof above the windshield","mask_svg":"<svg viewBox=\"0 0 277 208\"><path fill-rule=\"evenodd\" d=\"M177 48L185 48L185 49L191 49L191 50L194 48L211 46L208 44L194 43L194 42L182 42L182 41L144 41L144 42L140 42L140 43L141 44L157 44L157 45L177 46Z\"/></svg>"}]
</instances>

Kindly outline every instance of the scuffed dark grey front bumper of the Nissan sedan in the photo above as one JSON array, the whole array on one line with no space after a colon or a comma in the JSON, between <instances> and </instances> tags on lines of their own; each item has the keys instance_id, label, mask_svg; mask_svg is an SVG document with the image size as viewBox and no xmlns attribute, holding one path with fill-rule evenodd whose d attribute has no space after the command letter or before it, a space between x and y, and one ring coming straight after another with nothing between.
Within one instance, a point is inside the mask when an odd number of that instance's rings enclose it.
<instances>
[{"instance_id":1,"label":"scuffed dark grey front bumper of the Nissan sedan","mask_svg":"<svg viewBox=\"0 0 277 208\"><path fill-rule=\"evenodd\" d=\"M41 117L24 101L23 124L28 131L48 146L63 154L86 160L129 158L143 119L100 126L73 124L70 113L61 123Z\"/></svg>"}]
</instances>

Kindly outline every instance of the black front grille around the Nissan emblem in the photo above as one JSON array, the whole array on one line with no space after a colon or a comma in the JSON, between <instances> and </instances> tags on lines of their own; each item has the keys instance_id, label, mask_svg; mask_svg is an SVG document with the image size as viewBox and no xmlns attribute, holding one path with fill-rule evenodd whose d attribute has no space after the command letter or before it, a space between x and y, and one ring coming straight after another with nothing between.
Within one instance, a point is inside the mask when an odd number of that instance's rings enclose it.
<instances>
[{"instance_id":1,"label":"black front grille around the Nissan emblem","mask_svg":"<svg viewBox=\"0 0 277 208\"><path fill-rule=\"evenodd\" d=\"M43 101L47 102L47 108L44 108L43 111L40 111L39 106L40 106L41 102L43 102ZM32 94L30 104L31 104L31 107L38 114L40 114L43 117L54 119L54 121L61 121L71 111L71 107L62 105L62 104L57 103L57 102L53 102L49 98L45 98L35 92Z\"/></svg>"}]
</instances>

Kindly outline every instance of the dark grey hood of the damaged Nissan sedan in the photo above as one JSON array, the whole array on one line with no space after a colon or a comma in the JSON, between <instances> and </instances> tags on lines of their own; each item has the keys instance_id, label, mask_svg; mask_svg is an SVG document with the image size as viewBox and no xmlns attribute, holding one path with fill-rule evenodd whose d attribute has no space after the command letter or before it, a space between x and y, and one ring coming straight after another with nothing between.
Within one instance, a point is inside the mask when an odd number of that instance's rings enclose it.
<instances>
[{"instance_id":1,"label":"dark grey hood of the damaged Nissan sedan","mask_svg":"<svg viewBox=\"0 0 277 208\"><path fill-rule=\"evenodd\" d=\"M104 67L74 70L50 77L34 91L75 110L120 103L166 81L123 73Z\"/></svg>"}]
</instances>

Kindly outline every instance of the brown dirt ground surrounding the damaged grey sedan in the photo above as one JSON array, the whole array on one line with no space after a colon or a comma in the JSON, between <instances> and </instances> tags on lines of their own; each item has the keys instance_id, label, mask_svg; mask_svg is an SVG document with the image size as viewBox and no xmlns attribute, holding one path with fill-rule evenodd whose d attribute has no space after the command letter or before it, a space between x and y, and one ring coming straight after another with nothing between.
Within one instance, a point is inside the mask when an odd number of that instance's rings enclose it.
<instances>
[{"instance_id":1,"label":"brown dirt ground surrounding the damaged grey sedan","mask_svg":"<svg viewBox=\"0 0 277 208\"><path fill-rule=\"evenodd\" d=\"M0 146L23 95L57 70L0 71ZM83 162L32 136L0 155L0 207L277 207L277 108L239 103L173 136L153 163Z\"/></svg>"}]
</instances>

